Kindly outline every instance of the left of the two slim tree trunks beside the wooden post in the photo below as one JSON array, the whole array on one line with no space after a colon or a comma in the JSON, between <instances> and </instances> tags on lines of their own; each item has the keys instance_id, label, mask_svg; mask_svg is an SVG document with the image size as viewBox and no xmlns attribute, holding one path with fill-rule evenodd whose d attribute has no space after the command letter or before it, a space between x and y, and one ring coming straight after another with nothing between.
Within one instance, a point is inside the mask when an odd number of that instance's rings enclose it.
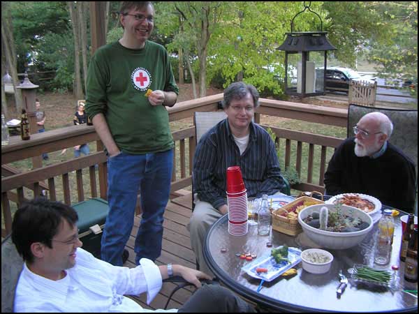
<instances>
[{"instance_id":1,"label":"left of the two slim tree trunks beside the wooden post","mask_svg":"<svg viewBox=\"0 0 419 314\"><path fill-rule=\"evenodd\" d=\"M75 88L74 96L77 99L84 99L82 91L82 80L80 77L80 36L79 36L79 23L77 7L80 6L80 1L75 3L73 1L67 1L68 10L71 17L71 25L73 26L74 36L74 76L75 76ZM75 6L75 8L74 8Z\"/></svg>"}]
</instances>

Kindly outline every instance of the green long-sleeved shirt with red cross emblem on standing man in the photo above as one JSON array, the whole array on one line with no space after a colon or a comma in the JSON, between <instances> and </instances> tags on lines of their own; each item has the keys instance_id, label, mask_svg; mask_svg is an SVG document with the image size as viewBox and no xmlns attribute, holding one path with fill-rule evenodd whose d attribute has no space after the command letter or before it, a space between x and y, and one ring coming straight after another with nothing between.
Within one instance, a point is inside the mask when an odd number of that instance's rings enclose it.
<instances>
[{"instance_id":1,"label":"green long-sleeved shirt with red cross emblem on standing man","mask_svg":"<svg viewBox=\"0 0 419 314\"><path fill-rule=\"evenodd\" d=\"M149 103L147 89L179 94L163 46L147 40L143 49L131 50L116 42L99 48L91 58L85 110L90 119L104 114L119 150L128 154L174 146L168 111Z\"/></svg>"}]
</instances>

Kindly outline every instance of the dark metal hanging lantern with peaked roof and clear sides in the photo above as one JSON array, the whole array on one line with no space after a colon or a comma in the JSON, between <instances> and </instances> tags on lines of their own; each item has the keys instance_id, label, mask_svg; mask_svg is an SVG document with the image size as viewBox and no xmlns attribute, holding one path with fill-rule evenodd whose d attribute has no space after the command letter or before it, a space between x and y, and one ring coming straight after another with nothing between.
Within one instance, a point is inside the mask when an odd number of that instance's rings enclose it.
<instances>
[{"instance_id":1,"label":"dark metal hanging lantern with peaked roof and clear sides","mask_svg":"<svg viewBox=\"0 0 419 314\"><path fill-rule=\"evenodd\" d=\"M336 50L326 38L328 32L322 31L320 15L310 10L310 5L304 1L304 10L291 21L291 33L286 33L286 40L277 48L285 52L285 94L301 98L325 94L328 50ZM320 31L293 31L295 17L307 9L320 19Z\"/></svg>"}]
</instances>

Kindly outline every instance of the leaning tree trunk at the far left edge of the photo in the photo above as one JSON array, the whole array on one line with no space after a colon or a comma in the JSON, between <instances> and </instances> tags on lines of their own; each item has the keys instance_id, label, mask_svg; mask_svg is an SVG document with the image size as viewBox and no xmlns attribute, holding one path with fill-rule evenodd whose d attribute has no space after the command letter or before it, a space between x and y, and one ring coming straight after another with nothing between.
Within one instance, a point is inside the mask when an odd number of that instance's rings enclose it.
<instances>
[{"instance_id":1,"label":"leaning tree trunk at the far left edge of the photo","mask_svg":"<svg viewBox=\"0 0 419 314\"><path fill-rule=\"evenodd\" d=\"M20 85L20 80L17 76L15 38L13 37L12 21L7 1L1 1L1 40L3 41L4 50L6 52L6 61L9 73L13 78L16 111L20 112L23 104L22 91L20 91L20 89L16 89L16 87Z\"/></svg>"}]
</instances>

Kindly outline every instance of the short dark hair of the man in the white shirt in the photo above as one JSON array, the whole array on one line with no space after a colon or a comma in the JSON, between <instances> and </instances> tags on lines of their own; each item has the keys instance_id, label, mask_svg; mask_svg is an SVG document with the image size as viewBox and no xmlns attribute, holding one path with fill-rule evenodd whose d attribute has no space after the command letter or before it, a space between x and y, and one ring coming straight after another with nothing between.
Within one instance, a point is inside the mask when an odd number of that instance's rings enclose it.
<instances>
[{"instance_id":1,"label":"short dark hair of the man in the white shirt","mask_svg":"<svg viewBox=\"0 0 419 314\"><path fill-rule=\"evenodd\" d=\"M35 242L52 248L52 238L59 232L63 219L69 225L75 225L78 214L73 207L47 200L45 197L22 204L12 223L12 241L20 256L29 263L34 262L31 244Z\"/></svg>"}]
</instances>

